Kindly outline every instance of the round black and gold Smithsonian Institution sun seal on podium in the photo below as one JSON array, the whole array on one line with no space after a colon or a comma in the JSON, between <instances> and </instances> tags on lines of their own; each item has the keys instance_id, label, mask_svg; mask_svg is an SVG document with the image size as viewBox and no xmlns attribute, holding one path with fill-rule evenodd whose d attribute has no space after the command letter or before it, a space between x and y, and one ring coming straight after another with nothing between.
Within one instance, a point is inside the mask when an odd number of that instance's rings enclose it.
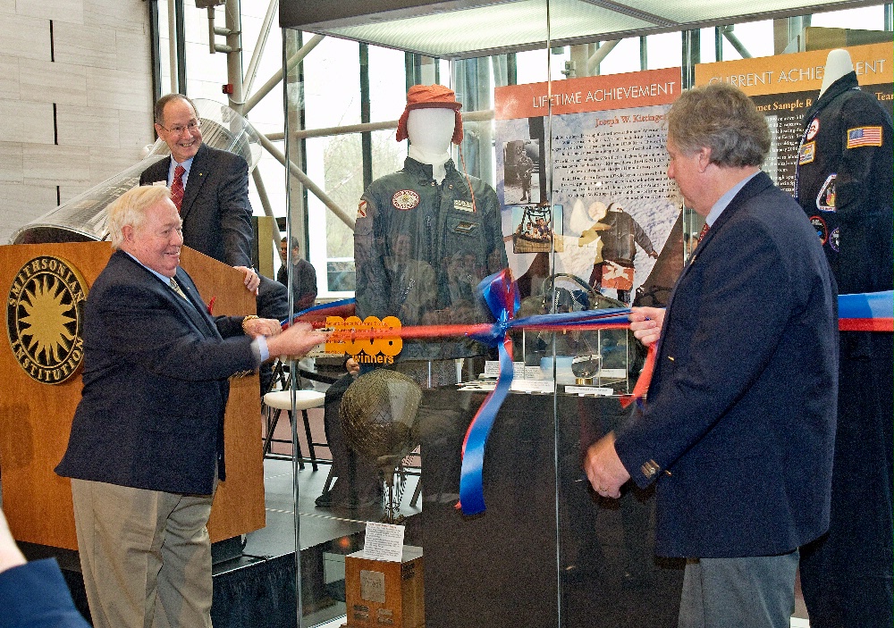
<instances>
[{"instance_id":1,"label":"round black and gold Smithsonian Institution sun seal on podium","mask_svg":"<svg viewBox=\"0 0 894 628\"><path fill-rule=\"evenodd\" d=\"M32 259L16 274L6 329L13 355L32 379L61 383L80 366L86 285L71 264L51 255Z\"/></svg>"}]
</instances>

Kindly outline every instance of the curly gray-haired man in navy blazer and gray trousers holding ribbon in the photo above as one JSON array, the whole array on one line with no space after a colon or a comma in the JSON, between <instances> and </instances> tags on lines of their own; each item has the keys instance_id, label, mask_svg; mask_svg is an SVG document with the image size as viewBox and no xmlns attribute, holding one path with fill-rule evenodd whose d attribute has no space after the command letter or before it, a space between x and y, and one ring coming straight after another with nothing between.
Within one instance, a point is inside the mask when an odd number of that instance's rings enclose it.
<instances>
[{"instance_id":1,"label":"curly gray-haired man in navy blazer and gray trousers holding ribbon","mask_svg":"<svg viewBox=\"0 0 894 628\"><path fill-rule=\"evenodd\" d=\"M681 628L788 627L797 548L829 525L835 286L804 212L759 170L769 148L738 88L672 105L668 176L710 229L666 311L631 314L657 339L647 401L586 456L603 496L656 483L656 553L688 559Z\"/></svg>"}]
</instances>

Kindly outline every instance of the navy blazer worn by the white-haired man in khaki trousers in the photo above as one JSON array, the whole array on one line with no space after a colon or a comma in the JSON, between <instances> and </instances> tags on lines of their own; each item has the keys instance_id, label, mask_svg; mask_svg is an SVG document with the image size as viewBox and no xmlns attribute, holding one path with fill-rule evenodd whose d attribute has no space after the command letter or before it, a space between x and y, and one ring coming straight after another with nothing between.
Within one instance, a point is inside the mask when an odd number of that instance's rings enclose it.
<instances>
[{"instance_id":1,"label":"navy blazer worn by the white-haired man in khaki trousers","mask_svg":"<svg viewBox=\"0 0 894 628\"><path fill-rule=\"evenodd\" d=\"M212 318L117 251L84 310L84 389L56 473L138 489L209 495L223 480L227 378L257 368L241 317Z\"/></svg>"}]
</instances>

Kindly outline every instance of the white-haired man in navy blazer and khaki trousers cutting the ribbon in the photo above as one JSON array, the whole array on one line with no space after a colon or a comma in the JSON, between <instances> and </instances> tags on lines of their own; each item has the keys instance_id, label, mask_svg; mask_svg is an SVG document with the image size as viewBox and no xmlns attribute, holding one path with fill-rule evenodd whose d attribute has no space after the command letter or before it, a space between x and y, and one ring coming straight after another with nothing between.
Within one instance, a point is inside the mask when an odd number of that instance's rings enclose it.
<instances>
[{"instance_id":1,"label":"white-haired man in navy blazer and khaki trousers cutting the ribbon","mask_svg":"<svg viewBox=\"0 0 894 628\"><path fill-rule=\"evenodd\" d=\"M211 626L206 523L226 477L235 373L325 339L299 325L216 317L183 271L181 219L161 186L109 208L115 250L84 310L83 391L56 473L72 478L95 628Z\"/></svg>"}]
</instances>

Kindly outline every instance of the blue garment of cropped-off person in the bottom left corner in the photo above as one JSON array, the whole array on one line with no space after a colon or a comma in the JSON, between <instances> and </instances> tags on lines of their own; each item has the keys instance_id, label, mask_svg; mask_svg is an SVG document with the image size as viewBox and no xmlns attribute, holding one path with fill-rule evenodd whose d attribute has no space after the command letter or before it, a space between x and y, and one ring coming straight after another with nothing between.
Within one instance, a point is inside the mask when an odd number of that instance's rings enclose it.
<instances>
[{"instance_id":1,"label":"blue garment of cropped-off person in the bottom left corner","mask_svg":"<svg viewBox=\"0 0 894 628\"><path fill-rule=\"evenodd\" d=\"M0 574L0 628L89 628L54 558Z\"/></svg>"}]
</instances>

